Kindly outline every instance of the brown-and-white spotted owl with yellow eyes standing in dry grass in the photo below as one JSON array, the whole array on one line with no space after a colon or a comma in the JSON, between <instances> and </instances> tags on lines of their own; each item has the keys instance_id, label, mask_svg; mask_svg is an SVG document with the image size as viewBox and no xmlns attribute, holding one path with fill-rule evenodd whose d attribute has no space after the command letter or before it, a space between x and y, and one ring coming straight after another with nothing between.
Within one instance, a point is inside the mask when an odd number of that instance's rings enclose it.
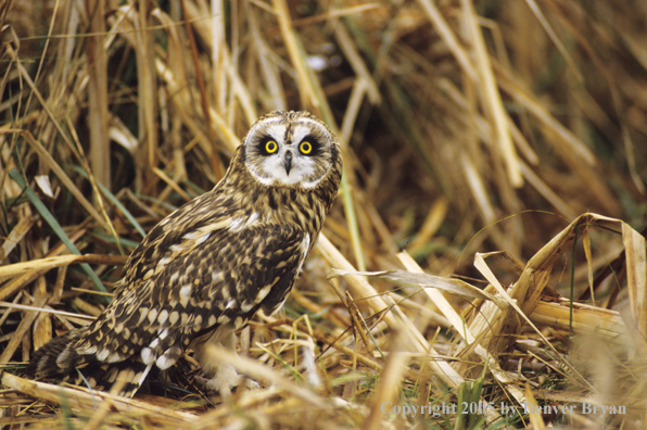
<instances>
[{"instance_id":1,"label":"brown-and-white spotted owl with yellow eyes standing in dry grass","mask_svg":"<svg viewBox=\"0 0 647 430\"><path fill-rule=\"evenodd\" d=\"M74 377L132 396L153 366L194 351L210 389L240 382L206 345L236 351L236 331L281 308L338 193L335 136L307 112L261 117L211 191L157 224L130 255L105 311L37 350L26 374ZM76 374L76 372L74 372Z\"/></svg>"}]
</instances>

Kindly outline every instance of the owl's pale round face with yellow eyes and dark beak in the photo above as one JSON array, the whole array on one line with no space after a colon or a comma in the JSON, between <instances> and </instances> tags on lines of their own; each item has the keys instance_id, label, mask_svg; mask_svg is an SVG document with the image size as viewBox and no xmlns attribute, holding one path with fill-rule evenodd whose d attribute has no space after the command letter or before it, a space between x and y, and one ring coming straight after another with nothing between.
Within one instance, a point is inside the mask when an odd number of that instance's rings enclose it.
<instances>
[{"instance_id":1,"label":"owl's pale round face with yellow eyes and dark beak","mask_svg":"<svg viewBox=\"0 0 647 430\"><path fill-rule=\"evenodd\" d=\"M334 135L307 112L263 116L243 144L246 167L265 186L315 188L339 156Z\"/></svg>"}]
</instances>

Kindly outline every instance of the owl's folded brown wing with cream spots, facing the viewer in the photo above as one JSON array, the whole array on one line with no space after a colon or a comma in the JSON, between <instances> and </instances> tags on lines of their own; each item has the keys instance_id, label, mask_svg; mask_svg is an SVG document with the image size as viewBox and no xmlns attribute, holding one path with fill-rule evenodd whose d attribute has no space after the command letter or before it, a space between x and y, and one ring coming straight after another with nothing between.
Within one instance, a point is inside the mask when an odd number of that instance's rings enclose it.
<instances>
[{"instance_id":1,"label":"owl's folded brown wing with cream spots, facing the viewer","mask_svg":"<svg viewBox=\"0 0 647 430\"><path fill-rule=\"evenodd\" d=\"M137 288L125 286L71 358L116 363L141 352L144 364L165 369L194 337L219 325L239 329L259 307L280 307L307 255L309 235L266 223L210 226L185 232L143 271Z\"/></svg>"}]
</instances>

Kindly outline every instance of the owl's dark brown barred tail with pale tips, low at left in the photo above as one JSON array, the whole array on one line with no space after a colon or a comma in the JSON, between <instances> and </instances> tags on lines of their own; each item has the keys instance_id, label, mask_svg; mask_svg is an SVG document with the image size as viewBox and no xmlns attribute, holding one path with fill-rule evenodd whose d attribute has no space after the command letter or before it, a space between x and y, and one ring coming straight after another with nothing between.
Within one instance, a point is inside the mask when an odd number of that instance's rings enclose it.
<instances>
[{"instance_id":1,"label":"owl's dark brown barred tail with pale tips, low at left","mask_svg":"<svg viewBox=\"0 0 647 430\"><path fill-rule=\"evenodd\" d=\"M60 379L101 391L111 391L116 385L116 394L135 395L153 364L144 364L139 354L118 363L98 362L94 354L79 355L73 345L85 331L85 328L74 329L42 345L33 354L25 375Z\"/></svg>"}]
</instances>

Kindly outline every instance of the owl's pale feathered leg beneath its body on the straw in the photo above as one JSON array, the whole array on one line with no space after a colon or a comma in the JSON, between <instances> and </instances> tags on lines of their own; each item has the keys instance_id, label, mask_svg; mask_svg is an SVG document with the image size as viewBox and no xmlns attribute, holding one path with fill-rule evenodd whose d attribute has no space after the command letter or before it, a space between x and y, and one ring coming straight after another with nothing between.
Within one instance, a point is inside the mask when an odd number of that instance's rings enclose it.
<instances>
[{"instance_id":1,"label":"owl's pale feathered leg beneath its body on the straw","mask_svg":"<svg viewBox=\"0 0 647 430\"><path fill-rule=\"evenodd\" d=\"M225 326L218 327L213 334L201 345L195 345L195 357L202 366L202 370L211 378L206 382L210 390L217 391L221 396L227 397L231 394L231 389L240 385L244 378L241 378L233 366L226 363L214 362L206 352L206 344L213 343L221 345L236 354L236 331ZM257 388L258 384L250 381L245 383L248 388Z\"/></svg>"}]
</instances>

